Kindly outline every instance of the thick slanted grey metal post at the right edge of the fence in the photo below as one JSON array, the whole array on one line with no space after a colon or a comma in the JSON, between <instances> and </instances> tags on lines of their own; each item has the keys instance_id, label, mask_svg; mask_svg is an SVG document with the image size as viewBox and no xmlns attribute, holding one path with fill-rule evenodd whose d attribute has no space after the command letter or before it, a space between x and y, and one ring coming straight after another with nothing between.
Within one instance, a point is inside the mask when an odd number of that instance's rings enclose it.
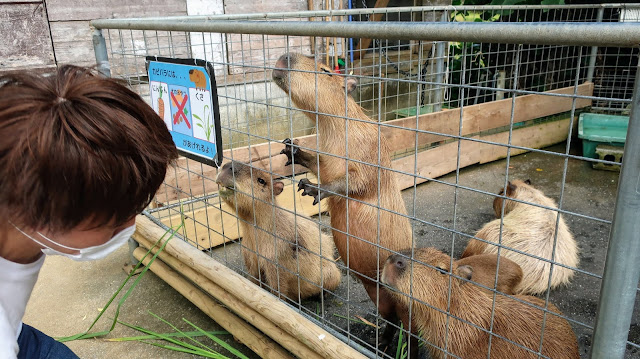
<instances>
[{"instance_id":1,"label":"thick slanted grey metal post at the right edge of the fence","mask_svg":"<svg viewBox=\"0 0 640 359\"><path fill-rule=\"evenodd\" d=\"M591 359L623 358L640 278L640 69L611 224Z\"/></svg>"}]
</instances>

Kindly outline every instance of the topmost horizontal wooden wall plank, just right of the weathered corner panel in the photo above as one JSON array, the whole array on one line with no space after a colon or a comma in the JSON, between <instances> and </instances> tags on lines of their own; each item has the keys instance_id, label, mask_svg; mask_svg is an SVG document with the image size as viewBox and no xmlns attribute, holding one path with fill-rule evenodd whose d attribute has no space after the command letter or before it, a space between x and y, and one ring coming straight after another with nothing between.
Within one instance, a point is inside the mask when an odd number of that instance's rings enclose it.
<instances>
[{"instance_id":1,"label":"topmost horizontal wooden wall plank, just right of the weathered corner panel","mask_svg":"<svg viewBox=\"0 0 640 359\"><path fill-rule=\"evenodd\" d=\"M186 0L47 0L49 21L187 15Z\"/></svg>"}]
</instances>

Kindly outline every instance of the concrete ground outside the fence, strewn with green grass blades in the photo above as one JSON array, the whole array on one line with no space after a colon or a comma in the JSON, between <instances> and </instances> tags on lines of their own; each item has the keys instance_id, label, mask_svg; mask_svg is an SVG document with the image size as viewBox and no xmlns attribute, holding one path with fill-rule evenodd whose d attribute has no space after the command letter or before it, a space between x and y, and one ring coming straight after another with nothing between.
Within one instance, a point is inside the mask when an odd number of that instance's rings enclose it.
<instances>
[{"instance_id":1,"label":"concrete ground outside the fence, strewn with green grass blades","mask_svg":"<svg viewBox=\"0 0 640 359\"><path fill-rule=\"evenodd\" d=\"M126 245L108 258L95 262L74 262L58 256L48 257L31 295L24 322L54 337L84 332L99 314L99 309L105 306L109 298L126 279L127 274L122 268L126 263L129 263L129 258L129 249ZM107 313L92 331L102 331L109 328L116 304L117 302L111 304ZM194 330L182 318L208 331L223 330L152 272L145 274L125 301L120 311L119 320L159 333L174 332L169 326L152 317L148 313L149 311L169 321L182 331ZM137 335L144 334L117 324L113 332L106 338ZM250 358L258 357L247 347L236 342L231 335L219 337ZM198 339L214 350L231 356L213 341ZM68 342L68 346L83 359L197 358L194 355L139 342L86 339Z\"/></svg>"}]
</instances>

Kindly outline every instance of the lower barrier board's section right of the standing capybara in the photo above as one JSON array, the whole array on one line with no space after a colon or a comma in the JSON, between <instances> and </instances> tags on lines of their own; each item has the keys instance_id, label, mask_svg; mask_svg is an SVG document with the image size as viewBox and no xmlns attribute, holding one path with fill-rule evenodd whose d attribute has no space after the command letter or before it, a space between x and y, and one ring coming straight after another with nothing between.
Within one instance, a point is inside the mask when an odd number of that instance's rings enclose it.
<instances>
[{"instance_id":1,"label":"lower barrier board's section right of the standing capybara","mask_svg":"<svg viewBox=\"0 0 640 359\"><path fill-rule=\"evenodd\" d=\"M577 119L575 119L577 121ZM542 148L567 139L569 134L570 119L547 122L531 127L513 130L511 144L527 148ZM487 136L474 136L473 138L507 144L509 132L500 132ZM528 151L511 149L511 156ZM427 151L418 153L418 168L415 168L415 157L407 156L393 161L393 168L399 171L415 173L422 177L436 178L456 170L456 158L458 156L458 142L451 142ZM460 144L460 168L473 164L482 164L507 157L507 147L491 145L480 142L462 140ZM398 174L400 188L413 186L414 176ZM420 184L426 179L415 178Z\"/></svg>"}]
</instances>

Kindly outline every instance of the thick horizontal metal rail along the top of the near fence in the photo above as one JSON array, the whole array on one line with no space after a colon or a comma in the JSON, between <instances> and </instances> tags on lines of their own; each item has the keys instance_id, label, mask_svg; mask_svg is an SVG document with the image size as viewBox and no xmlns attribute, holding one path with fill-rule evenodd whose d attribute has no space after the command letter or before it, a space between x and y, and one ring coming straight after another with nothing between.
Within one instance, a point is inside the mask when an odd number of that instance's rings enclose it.
<instances>
[{"instance_id":1,"label":"thick horizontal metal rail along the top of the near fence","mask_svg":"<svg viewBox=\"0 0 640 359\"><path fill-rule=\"evenodd\" d=\"M290 36L635 47L640 23L442 23L207 20L94 20L99 29L222 32Z\"/></svg>"}]
</instances>

